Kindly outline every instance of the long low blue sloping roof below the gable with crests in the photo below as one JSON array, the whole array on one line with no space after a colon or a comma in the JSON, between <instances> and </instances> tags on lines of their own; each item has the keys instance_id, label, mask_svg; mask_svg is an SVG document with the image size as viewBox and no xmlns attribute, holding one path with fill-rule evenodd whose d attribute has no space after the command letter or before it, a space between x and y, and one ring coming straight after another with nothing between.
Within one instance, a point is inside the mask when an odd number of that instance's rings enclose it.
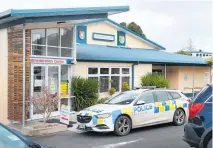
<instances>
[{"instance_id":1,"label":"long low blue sloping roof below the gable with crests","mask_svg":"<svg viewBox=\"0 0 213 148\"><path fill-rule=\"evenodd\" d=\"M165 51L91 44L77 45L77 60L168 65L207 65L205 59Z\"/></svg>"}]
</instances>

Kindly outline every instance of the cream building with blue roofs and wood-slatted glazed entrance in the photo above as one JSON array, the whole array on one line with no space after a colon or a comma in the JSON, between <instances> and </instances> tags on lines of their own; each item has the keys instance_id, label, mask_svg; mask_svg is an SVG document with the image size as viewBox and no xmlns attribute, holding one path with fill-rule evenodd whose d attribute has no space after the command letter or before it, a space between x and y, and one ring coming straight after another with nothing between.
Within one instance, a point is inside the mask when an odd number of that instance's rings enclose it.
<instances>
[{"instance_id":1,"label":"cream building with blue roofs and wood-slatted glazed entrance","mask_svg":"<svg viewBox=\"0 0 213 148\"><path fill-rule=\"evenodd\" d=\"M100 82L100 97L113 87L140 87L149 72L164 75L170 88L209 83L209 67L200 58L168 53L165 48L108 19L129 7L10 10L0 13L0 122L41 118L31 105L42 86L71 105L74 76ZM196 81L194 81L196 80Z\"/></svg>"}]
</instances>

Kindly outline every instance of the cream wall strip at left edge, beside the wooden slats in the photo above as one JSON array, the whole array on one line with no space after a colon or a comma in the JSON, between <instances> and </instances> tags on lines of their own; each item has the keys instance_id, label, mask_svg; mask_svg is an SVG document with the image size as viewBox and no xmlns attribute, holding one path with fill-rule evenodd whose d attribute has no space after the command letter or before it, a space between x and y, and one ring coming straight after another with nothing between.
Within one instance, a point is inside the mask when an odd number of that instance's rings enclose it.
<instances>
[{"instance_id":1,"label":"cream wall strip at left edge, beside the wooden slats","mask_svg":"<svg viewBox=\"0 0 213 148\"><path fill-rule=\"evenodd\" d=\"M7 29L0 30L0 122L8 124L8 37Z\"/></svg>"}]
</instances>

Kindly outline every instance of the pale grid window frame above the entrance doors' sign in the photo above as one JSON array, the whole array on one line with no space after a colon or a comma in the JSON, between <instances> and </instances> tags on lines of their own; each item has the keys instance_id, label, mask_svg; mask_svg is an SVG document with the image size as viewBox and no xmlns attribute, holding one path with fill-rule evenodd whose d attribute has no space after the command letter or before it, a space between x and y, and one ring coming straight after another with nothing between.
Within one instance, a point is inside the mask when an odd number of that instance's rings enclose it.
<instances>
[{"instance_id":1,"label":"pale grid window frame above the entrance doors' sign","mask_svg":"<svg viewBox=\"0 0 213 148\"><path fill-rule=\"evenodd\" d=\"M52 27L52 28L35 28L35 29L31 29L31 41L30 41L30 46L31 46L31 57L40 57L40 58L58 58L58 59L70 59L70 58L73 58L73 50L74 50L74 47L75 47L75 43L74 41L71 41L71 47L62 47L61 46L61 30L63 28L72 28L72 36L73 36L73 39L74 39L74 32L75 32L75 28L74 26L67 26L67 27ZM45 45L40 45L40 44L33 44L33 30L39 30L39 29L44 29L45 31ZM50 46L48 45L48 41L47 41L47 29L59 29L59 46ZM40 47L45 47L45 56L44 55L33 55L33 46L40 46ZM48 56L48 47L52 47L52 48L58 48L59 50L59 56ZM71 51L71 55L70 56L67 56L67 57L62 57L61 56L61 50L62 49L70 49Z\"/></svg>"}]
</instances>

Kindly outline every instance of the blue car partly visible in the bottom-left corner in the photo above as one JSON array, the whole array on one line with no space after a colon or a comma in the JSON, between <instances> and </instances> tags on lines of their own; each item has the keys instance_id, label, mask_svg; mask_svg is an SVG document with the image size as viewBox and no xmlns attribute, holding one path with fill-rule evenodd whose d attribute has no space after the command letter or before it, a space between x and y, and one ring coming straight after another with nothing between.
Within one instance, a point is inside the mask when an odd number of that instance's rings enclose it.
<instances>
[{"instance_id":1,"label":"blue car partly visible in the bottom-left corner","mask_svg":"<svg viewBox=\"0 0 213 148\"><path fill-rule=\"evenodd\" d=\"M48 148L34 143L19 131L0 123L0 148Z\"/></svg>"}]
</instances>

